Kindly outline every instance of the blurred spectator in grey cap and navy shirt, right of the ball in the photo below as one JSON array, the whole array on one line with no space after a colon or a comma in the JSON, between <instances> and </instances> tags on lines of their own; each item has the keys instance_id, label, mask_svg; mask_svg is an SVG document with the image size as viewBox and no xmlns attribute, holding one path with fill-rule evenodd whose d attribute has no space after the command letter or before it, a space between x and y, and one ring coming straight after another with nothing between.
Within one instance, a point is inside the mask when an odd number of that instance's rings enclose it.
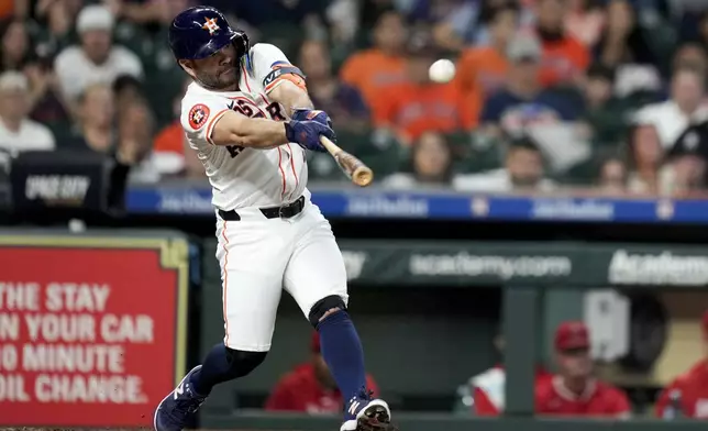
<instances>
[{"instance_id":1,"label":"blurred spectator in grey cap and navy shirt, right of the ball","mask_svg":"<svg viewBox=\"0 0 708 431\"><path fill-rule=\"evenodd\" d=\"M482 110L483 133L498 136L504 131L518 136L530 125L578 119L582 107L541 87L541 46L536 40L516 36L509 43L507 57L510 67L506 87L489 96Z\"/></svg>"}]
</instances>

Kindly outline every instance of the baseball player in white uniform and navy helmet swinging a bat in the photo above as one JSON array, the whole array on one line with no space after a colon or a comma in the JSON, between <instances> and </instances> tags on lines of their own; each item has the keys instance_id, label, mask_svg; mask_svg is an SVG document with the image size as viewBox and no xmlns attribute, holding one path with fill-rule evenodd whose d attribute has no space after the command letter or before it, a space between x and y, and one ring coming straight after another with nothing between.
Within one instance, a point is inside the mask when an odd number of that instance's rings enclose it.
<instances>
[{"instance_id":1,"label":"baseball player in white uniform and navy helmet swinging a bat","mask_svg":"<svg viewBox=\"0 0 708 431\"><path fill-rule=\"evenodd\" d=\"M386 429L388 405L366 388L362 344L346 312L346 274L329 222L310 202L306 151L336 139L313 110L305 76L276 46L248 44L210 7L179 13L169 44L191 84L181 102L189 145L217 213L225 336L157 406L156 431L189 424L211 389L256 368L270 349L281 290L317 329L344 399L341 431Z\"/></svg>"}]
</instances>

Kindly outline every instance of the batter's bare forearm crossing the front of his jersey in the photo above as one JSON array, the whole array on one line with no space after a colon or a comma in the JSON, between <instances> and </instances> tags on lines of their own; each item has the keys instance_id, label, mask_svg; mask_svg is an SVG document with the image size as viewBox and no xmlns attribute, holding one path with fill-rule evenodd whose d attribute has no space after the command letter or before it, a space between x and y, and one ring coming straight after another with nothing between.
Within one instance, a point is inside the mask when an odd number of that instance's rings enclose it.
<instances>
[{"instance_id":1,"label":"batter's bare forearm crossing the front of his jersey","mask_svg":"<svg viewBox=\"0 0 708 431\"><path fill-rule=\"evenodd\" d=\"M217 121L211 132L215 145L241 145L250 148L273 148L287 144L283 122L252 119L235 112L226 112Z\"/></svg>"}]
</instances>

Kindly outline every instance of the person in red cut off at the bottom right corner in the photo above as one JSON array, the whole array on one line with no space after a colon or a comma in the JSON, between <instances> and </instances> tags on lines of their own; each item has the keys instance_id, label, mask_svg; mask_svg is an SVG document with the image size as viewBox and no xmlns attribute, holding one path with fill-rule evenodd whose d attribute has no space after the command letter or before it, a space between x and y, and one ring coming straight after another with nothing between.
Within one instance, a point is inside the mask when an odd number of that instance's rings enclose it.
<instances>
[{"instance_id":1,"label":"person in red cut off at the bottom right corner","mask_svg":"<svg viewBox=\"0 0 708 431\"><path fill-rule=\"evenodd\" d=\"M708 345L708 310L701 327L704 343ZM655 408L660 418L708 419L708 357L698 361L662 390Z\"/></svg>"}]
</instances>

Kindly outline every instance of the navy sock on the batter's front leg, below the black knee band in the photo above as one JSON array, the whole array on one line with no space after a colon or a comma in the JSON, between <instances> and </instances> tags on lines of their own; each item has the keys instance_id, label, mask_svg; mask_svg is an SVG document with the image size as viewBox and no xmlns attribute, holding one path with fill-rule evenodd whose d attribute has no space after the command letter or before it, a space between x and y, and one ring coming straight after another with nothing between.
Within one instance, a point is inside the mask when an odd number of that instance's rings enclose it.
<instances>
[{"instance_id":1,"label":"navy sock on the batter's front leg, below the black knee band","mask_svg":"<svg viewBox=\"0 0 708 431\"><path fill-rule=\"evenodd\" d=\"M336 311L322 320L317 330L320 333L322 357L336 382L344 404L366 387L364 350L354 323L346 311ZM351 419L351 415L347 419Z\"/></svg>"}]
</instances>

